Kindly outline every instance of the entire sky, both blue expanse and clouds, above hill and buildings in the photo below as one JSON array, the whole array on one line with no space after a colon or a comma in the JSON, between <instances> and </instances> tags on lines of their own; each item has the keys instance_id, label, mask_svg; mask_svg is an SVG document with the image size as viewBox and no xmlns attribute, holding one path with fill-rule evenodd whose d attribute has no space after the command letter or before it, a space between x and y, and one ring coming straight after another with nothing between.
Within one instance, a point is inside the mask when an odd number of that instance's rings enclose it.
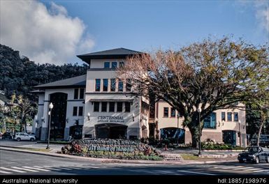
<instances>
[{"instance_id":1,"label":"entire sky, both blue expanse and clouds, above hill and buildings","mask_svg":"<svg viewBox=\"0 0 269 184\"><path fill-rule=\"evenodd\" d=\"M140 52L211 36L269 42L269 1L0 1L0 43L36 63L83 62L78 54Z\"/></svg>"}]
</instances>

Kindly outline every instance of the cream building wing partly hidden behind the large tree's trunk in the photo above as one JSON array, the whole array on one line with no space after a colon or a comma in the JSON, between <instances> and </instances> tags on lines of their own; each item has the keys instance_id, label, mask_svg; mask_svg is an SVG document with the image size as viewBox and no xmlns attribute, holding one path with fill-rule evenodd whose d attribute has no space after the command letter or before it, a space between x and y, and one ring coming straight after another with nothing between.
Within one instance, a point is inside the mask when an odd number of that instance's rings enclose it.
<instances>
[{"instance_id":1,"label":"cream building wing partly hidden behind the large tree's trunk","mask_svg":"<svg viewBox=\"0 0 269 184\"><path fill-rule=\"evenodd\" d=\"M205 118L201 141L212 139L237 146L247 146L245 105L239 103L238 109L218 109ZM167 102L160 100L156 104L157 128L161 139L175 139L179 143L191 143L191 133L182 126L184 118ZM177 129L178 127L178 129ZM178 132L177 132L178 131Z\"/></svg>"}]
</instances>

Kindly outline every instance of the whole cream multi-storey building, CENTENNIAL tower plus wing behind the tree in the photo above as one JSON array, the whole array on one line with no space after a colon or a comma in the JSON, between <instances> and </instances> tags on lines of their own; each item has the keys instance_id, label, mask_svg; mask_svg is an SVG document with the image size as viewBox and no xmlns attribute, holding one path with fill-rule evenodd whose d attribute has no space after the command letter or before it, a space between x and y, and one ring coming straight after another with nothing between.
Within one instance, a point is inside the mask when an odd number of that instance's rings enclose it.
<instances>
[{"instance_id":1,"label":"whole cream multi-storey building, CENTENNIAL tower plus wing behind the tree","mask_svg":"<svg viewBox=\"0 0 269 184\"><path fill-rule=\"evenodd\" d=\"M48 105L52 102L50 137L54 139L70 135L136 139L155 136L156 132L162 139L176 138L178 127L180 143L189 143L190 132L182 127L183 118L177 118L175 109L161 100L152 108L149 99L132 93L131 79L116 78L116 68L134 54L141 52L119 48L82 54L78 57L89 64L87 75L35 86L33 93L39 95L36 136L47 139ZM245 131L245 111L217 110L205 120L201 139L239 145L240 132L245 146Z\"/></svg>"}]
</instances>

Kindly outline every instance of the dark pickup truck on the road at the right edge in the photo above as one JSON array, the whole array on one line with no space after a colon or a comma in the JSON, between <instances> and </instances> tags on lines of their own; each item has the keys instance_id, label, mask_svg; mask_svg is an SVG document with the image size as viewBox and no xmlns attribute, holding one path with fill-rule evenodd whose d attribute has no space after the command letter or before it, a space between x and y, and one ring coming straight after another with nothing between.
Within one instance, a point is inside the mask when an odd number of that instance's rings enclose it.
<instances>
[{"instance_id":1,"label":"dark pickup truck on the road at the right edge","mask_svg":"<svg viewBox=\"0 0 269 184\"><path fill-rule=\"evenodd\" d=\"M265 160L269 163L269 148L263 148L261 146L250 146L242 153L238 154L238 160L242 162L254 162L259 164L261 160Z\"/></svg>"}]
</instances>

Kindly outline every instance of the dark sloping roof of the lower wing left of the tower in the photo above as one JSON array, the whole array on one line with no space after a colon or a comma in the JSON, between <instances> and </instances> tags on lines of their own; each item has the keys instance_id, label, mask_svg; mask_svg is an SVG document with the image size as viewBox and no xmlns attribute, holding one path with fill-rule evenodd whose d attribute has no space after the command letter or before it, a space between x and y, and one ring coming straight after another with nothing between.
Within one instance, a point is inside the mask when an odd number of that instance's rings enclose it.
<instances>
[{"instance_id":1,"label":"dark sloping roof of the lower wing left of the tower","mask_svg":"<svg viewBox=\"0 0 269 184\"><path fill-rule=\"evenodd\" d=\"M63 79L56 82L50 82L47 84L41 84L34 86L36 89L62 89L62 88L73 88L73 87L85 87L86 86L86 75L80 75L78 77L72 77L69 79Z\"/></svg>"}]
</instances>

